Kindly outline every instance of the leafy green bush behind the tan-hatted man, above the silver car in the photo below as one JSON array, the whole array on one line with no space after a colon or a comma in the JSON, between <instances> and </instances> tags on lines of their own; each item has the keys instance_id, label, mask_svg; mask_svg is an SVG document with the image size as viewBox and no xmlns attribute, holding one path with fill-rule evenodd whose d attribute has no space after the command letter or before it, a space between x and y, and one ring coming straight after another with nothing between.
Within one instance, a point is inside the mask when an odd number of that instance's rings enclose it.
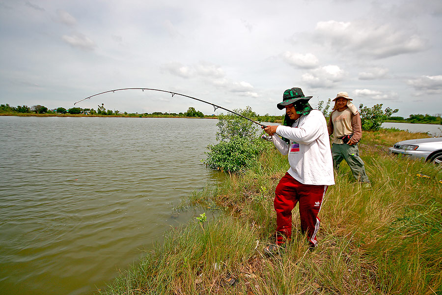
<instances>
[{"instance_id":1,"label":"leafy green bush behind the tan-hatted man, above the silver car","mask_svg":"<svg viewBox=\"0 0 442 295\"><path fill-rule=\"evenodd\" d=\"M362 130L379 130L385 120L399 112L399 109L392 110L390 108L386 108L382 111L382 106L382 103L376 104L372 108L364 107L363 104L359 105Z\"/></svg>"}]
</instances>

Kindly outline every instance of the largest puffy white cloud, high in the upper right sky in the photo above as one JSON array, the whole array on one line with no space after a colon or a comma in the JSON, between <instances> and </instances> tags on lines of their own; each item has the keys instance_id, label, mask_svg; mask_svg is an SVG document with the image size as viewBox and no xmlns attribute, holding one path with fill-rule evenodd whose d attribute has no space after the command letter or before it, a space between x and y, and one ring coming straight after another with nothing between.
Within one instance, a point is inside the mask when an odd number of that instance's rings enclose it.
<instances>
[{"instance_id":1,"label":"largest puffy white cloud, high in the upper right sky","mask_svg":"<svg viewBox=\"0 0 442 295\"><path fill-rule=\"evenodd\" d=\"M375 59L415 53L426 48L426 41L417 33L386 23L319 22L314 36L318 43L328 44L338 52Z\"/></svg>"}]
</instances>

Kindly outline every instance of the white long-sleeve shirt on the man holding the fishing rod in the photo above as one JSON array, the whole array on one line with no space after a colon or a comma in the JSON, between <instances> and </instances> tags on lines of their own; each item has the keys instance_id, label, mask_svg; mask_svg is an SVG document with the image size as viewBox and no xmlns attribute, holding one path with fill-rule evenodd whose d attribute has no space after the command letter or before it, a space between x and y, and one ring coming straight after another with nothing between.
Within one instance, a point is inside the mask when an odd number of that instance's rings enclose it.
<instances>
[{"instance_id":1,"label":"white long-sleeve shirt on the man holding the fishing rod","mask_svg":"<svg viewBox=\"0 0 442 295\"><path fill-rule=\"evenodd\" d=\"M329 132L320 111L302 115L292 127L279 125L276 133L290 140L287 145L278 136L272 136L279 152L288 154L290 169L287 172L293 178L304 184L334 184Z\"/></svg>"}]
</instances>

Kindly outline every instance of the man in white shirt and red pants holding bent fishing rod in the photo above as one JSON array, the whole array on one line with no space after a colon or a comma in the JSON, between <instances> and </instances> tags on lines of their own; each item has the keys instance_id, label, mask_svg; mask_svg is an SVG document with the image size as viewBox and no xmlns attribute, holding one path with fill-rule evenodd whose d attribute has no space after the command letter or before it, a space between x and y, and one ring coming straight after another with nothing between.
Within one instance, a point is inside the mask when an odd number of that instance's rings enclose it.
<instances>
[{"instance_id":1,"label":"man in white shirt and red pants holding bent fishing rod","mask_svg":"<svg viewBox=\"0 0 442 295\"><path fill-rule=\"evenodd\" d=\"M301 232L306 235L309 248L313 250L318 243L318 214L334 178L327 122L324 115L308 103L311 97L304 96L301 88L285 90L282 102L276 105L279 110L285 108L283 124L262 127L279 152L288 154L290 164L276 186L276 244L267 246L266 254L279 253L279 248L290 241L292 210L297 203Z\"/></svg>"}]
</instances>

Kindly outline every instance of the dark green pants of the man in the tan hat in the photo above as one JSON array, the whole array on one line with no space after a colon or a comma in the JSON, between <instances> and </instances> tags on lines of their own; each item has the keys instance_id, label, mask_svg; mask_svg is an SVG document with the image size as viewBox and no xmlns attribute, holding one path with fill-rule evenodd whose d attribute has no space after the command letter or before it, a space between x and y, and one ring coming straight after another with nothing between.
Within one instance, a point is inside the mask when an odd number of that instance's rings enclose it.
<instances>
[{"instance_id":1,"label":"dark green pants of the man in the tan hat","mask_svg":"<svg viewBox=\"0 0 442 295\"><path fill-rule=\"evenodd\" d=\"M359 157L358 145L349 146L347 144L332 144L331 156L333 157L333 168L338 169L343 159L350 166L353 176L358 182L370 182L365 174L364 162Z\"/></svg>"}]
</instances>

